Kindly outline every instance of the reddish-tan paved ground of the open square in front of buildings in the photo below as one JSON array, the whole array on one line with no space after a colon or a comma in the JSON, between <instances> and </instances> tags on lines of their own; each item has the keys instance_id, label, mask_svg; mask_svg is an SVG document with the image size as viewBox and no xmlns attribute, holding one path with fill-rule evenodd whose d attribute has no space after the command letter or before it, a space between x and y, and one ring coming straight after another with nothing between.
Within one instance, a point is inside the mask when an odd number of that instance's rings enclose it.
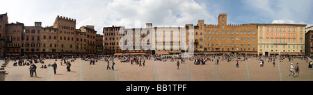
<instances>
[{"instance_id":1,"label":"reddish-tan paved ground of the open square in front of buildings","mask_svg":"<svg viewBox=\"0 0 313 95\"><path fill-rule=\"evenodd\" d=\"M44 60L45 64L52 64L54 60ZM259 67L259 60L250 58L246 61L240 61L239 67L235 67L236 62L227 62L220 60L219 64L208 61L206 64L195 65L194 60L185 60L177 69L177 60L174 62L161 62L159 60L145 60L145 67L139 67L138 64L130 62L120 62L115 59L115 70L106 69L107 62L98 61L95 64L89 64L89 61L77 59L71 62L71 71L68 72L65 64L60 64L60 59L56 61L58 68L56 74L52 67L47 69L40 68L41 63L35 64L37 68L37 77L31 77L29 66L15 66L11 61L5 70L8 72L6 81L312 81L313 69L308 68L305 60L294 59L294 63L299 63L300 76L289 76L289 60L283 62L275 60L273 62L264 60L264 67ZM180 62L180 60L179 60ZM280 64L278 66L278 64ZM110 61L109 67L112 67ZM281 72L281 74L280 74ZM281 77L280 77L281 76Z\"/></svg>"}]
</instances>

